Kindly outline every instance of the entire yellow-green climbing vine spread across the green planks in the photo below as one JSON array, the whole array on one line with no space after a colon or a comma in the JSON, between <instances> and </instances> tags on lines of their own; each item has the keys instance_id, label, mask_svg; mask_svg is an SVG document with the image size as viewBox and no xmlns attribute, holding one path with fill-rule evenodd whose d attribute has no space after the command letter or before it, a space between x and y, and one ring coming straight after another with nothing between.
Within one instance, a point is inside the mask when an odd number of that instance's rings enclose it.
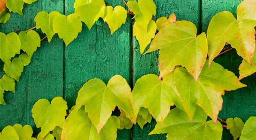
<instances>
[{"instance_id":1,"label":"entire yellow-green climbing vine spread across the green planks","mask_svg":"<svg viewBox=\"0 0 256 140\"><path fill-rule=\"evenodd\" d=\"M22 14L24 2L7 0L6 6L9 11ZM229 129L234 139L255 140L256 117L244 124L240 118L223 121L218 114L225 91L245 87L239 80L256 72L256 0L241 2L237 18L228 11L217 13L207 34L199 35L192 22L176 21L174 14L152 20L156 15L153 0L123 2L128 12L122 6L106 6L103 0L76 0L75 13L41 11L34 19L35 27L18 34L0 33L0 59L5 72L0 79L0 104L6 104L4 91L15 92L15 81L19 81L41 41L47 38L50 43L58 34L68 47L82 31L82 22L91 29L99 18L113 34L130 14L135 19L133 35L139 41L140 53L160 50L160 75L142 76L133 89L120 75L113 76L108 84L100 79L89 80L79 90L76 105L69 114L63 98L55 97L51 102L40 99L32 109L35 125L41 129L37 139L115 140L117 129L130 129L137 123L143 128L153 117L157 125L150 135L166 133L169 140L221 140L222 127ZM1 13L0 16L8 17ZM46 37L41 39L34 29L41 29ZM239 78L213 61L231 50L226 44L243 58ZM170 110L171 106L175 108ZM119 116L112 115L115 110L120 111ZM15 124L2 130L0 140L36 140L32 134L29 125Z\"/></svg>"}]
</instances>

